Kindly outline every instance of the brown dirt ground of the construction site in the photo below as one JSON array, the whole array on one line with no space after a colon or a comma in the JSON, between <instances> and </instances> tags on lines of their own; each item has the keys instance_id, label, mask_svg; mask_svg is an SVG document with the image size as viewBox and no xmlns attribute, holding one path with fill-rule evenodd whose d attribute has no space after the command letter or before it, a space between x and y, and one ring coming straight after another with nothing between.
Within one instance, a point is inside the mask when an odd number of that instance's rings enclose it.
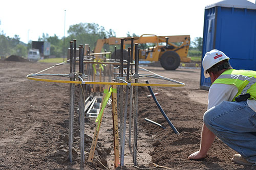
<instances>
[{"instance_id":1,"label":"brown dirt ground of the construction site","mask_svg":"<svg viewBox=\"0 0 256 170\"><path fill-rule=\"evenodd\" d=\"M74 162L68 161L69 84L28 80L26 75L54 65L0 61L0 169L81 169L79 123L75 113ZM254 169L231 162L233 150L218 138L203 160L187 160L200 145L202 117L207 109L207 91L199 89L200 69L145 67L156 74L183 82L185 87L152 87L157 100L180 135L167 124L147 87L139 87L138 167L125 147L122 169ZM64 73L69 66L53 72ZM139 71L140 72L140 71ZM142 71L143 72L143 71ZM144 81L144 80L141 80ZM158 80L150 80L157 83ZM77 109L77 98L75 109ZM114 169L112 106L107 105L102 120L93 163L88 163L95 119L85 118L85 154L83 169ZM148 123L151 119L166 129ZM127 122L128 124L128 122ZM127 130L126 130L127 132ZM128 133L128 132L127 132ZM120 135L120 134L119 134ZM133 139L132 139L133 141ZM96 160L97 159L97 160ZM99 160L99 161L98 161ZM153 163L155 163L155 165ZM160 167L162 166L162 167ZM121 168L119 168L121 169Z\"/></svg>"}]
</instances>

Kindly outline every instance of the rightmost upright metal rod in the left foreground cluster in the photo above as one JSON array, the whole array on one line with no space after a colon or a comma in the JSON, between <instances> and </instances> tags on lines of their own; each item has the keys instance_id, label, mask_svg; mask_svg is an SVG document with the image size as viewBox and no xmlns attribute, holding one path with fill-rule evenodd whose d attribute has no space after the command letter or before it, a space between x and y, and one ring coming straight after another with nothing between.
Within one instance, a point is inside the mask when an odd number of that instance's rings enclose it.
<instances>
[{"instance_id":1,"label":"rightmost upright metal rod in the left foreground cluster","mask_svg":"<svg viewBox=\"0 0 256 170\"><path fill-rule=\"evenodd\" d=\"M79 45L79 72L83 74L82 45ZM84 164L84 98L83 87L79 86L79 123L80 123L80 166Z\"/></svg>"}]
</instances>

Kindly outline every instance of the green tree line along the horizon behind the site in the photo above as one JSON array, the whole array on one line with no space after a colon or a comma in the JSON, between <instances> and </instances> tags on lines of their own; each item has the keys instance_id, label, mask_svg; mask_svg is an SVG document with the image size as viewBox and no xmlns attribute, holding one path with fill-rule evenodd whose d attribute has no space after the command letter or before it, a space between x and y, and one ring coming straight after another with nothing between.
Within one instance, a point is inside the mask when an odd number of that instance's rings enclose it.
<instances>
[{"instance_id":1,"label":"green tree line along the horizon behind the site","mask_svg":"<svg viewBox=\"0 0 256 170\"><path fill-rule=\"evenodd\" d=\"M0 21L1 24L1 21ZM116 33L112 29L105 30L104 27L99 26L97 23L78 23L76 25L72 25L69 27L68 36L59 38L54 34L54 36L49 36L47 33L42 33L41 37L38 37L37 41L47 41L51 43L50 53L56 57L67 56L68 48L70 47L70 40L76 39L77 46L79 44L89 44L90 48L93 50L96 46L96 42L98 39L115 37ZM127 32L127 37L137 36L136 34L130 35ZM201 52L201 44L202 38L197 37L195 41L191 41L191 45L189 51L192 53L188 53L189 56L193 56L194 53ZM26 58L28 55L28 50L32 48L32 41L28 44L25 44L20 41L18 35L14 35L14 37L6 36L4 31L0 30L0 57L10 56L10 55L18 55ZM105 44L103 49L106 51L110 51L113 47Z\"/></svg>"}]
</instances>

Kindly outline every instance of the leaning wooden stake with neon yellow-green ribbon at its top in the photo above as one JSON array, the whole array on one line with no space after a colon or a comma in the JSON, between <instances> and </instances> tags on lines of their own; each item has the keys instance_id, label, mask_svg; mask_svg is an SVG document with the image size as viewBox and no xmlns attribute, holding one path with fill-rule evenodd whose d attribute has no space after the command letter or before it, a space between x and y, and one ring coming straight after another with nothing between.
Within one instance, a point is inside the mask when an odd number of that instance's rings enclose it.
<instances>
[{"instance_id":1,"label":"leaning wooden stake with neon yellow-green ribbon at its top","mask_svg":"<svg viewBox=\"0 0 256 170\"><path fill-rule=\"evenodd\" d=\"M102 96L101 105L100 105L100 109L99 109L100 111L102 109L102 103L104 101L103 99L105 98L106 94L109 92L109 88L110 88L110 85L105 85L104 86L104 93L103 93L103 96ZM93 161L93 156L94 156L94 152L95 152L95 148L96 148L96 144L97 144L97 140L98 140L99 129L100 129L100 124L101 124L102 117L103 117L103 113L100 117L100 123L97 122L96 126L95 126L94 137L93 137L93 141L92 141L92 145L91 145L91 151L90 151L90 155L89 155L89 158L88 158L88 162Z\"/></svg>"}]
</instances>

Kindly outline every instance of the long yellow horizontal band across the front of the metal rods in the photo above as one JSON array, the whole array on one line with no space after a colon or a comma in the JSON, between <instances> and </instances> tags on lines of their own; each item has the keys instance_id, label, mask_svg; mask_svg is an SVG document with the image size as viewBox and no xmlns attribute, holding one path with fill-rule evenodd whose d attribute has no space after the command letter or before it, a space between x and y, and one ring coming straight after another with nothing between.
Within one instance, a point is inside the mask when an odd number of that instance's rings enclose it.
<instances>
[{"instance_id":1,"label":"long yellow horizontal band across the front of the metal rods","mask_svg":"<svg viewBox=\"0 0 256 170\"><path fill-rule=\"evenodd\" d=\"M74 84L83 84L81 81L70 81L70 80L53 80L53 79L40 79L32 78L27 75L29 80L42 81L42 82L54 82L54 83L74 83ZM157 87L183 87L185 84L153 84L153 83L118 83L118 82L91 82L85 81L84 84L99 84L99 85L122 85L122 86L157 86Z\"/></svg>"}]
</instances>

